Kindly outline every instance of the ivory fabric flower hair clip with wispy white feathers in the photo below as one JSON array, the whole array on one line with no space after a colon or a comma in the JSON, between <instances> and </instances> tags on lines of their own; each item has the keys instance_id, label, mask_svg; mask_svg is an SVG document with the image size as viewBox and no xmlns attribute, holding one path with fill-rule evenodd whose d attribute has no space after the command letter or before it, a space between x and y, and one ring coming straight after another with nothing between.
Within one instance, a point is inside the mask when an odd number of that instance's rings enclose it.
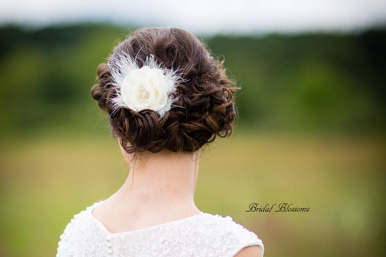
<instances>
[{"instance_id":1,"label":"ivory fabric flower hair clip with wispy white feathers","mask_svg":"<svg viewBox=\"0 0 386 257\"><path fill-rule=\"evenodd\" d=\"M107 66L116 91L116 97L111 100L113 113L120 108L136 112L150 109L162 118L177 100L174 97L177 85L186 82L182 78L183 73L178 73L179 69L163 67L156 62L153 54L146 57L141 68L126 53L110 57Z\"/></svg>"}]
</instances>

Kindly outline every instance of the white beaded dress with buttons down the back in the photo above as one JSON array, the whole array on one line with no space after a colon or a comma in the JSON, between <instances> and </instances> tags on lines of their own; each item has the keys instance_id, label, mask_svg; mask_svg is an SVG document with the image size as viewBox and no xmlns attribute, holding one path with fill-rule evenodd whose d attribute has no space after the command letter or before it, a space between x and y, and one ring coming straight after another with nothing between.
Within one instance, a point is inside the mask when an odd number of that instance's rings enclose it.
<instances>
[{"instance_id":1,"label":"white beaded dress with buttons down the back","mask_svg":"<svg viewBox=\"0 0 386 257\"><path fill-rule=\"evenodd\" d=\"M56 257L233 257L242 248L264 245L231 217L201 212L155 226L110 233L91 211L75 214L58 242Z\"/></svg>"}]
</instances>

